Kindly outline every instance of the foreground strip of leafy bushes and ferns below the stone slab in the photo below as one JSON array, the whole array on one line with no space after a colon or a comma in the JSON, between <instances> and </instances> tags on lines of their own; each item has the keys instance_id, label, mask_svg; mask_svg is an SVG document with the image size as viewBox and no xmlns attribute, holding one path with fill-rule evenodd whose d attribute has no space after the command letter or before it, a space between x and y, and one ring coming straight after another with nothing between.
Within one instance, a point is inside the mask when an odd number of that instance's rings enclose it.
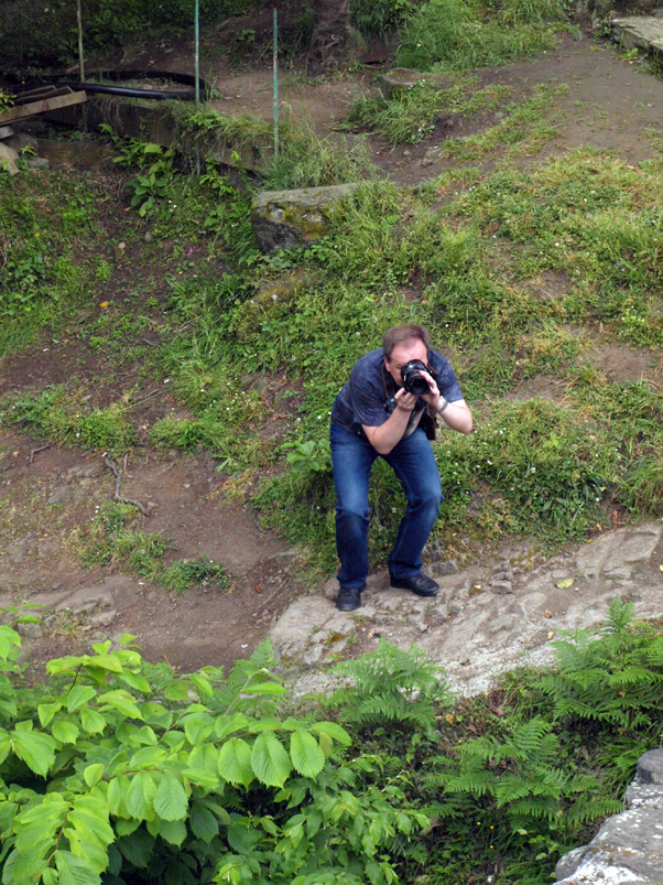
<instances>
[{"instance_id":1,"label":"foreground strip of leafy bushes and ferns below the stone slab","mask_svg":"<svg viewBox=\"0 0 663 885\"><path fill-rule=\"evenodd\" d=\"M385 641L306 703L267 646L178 676L129 635L35 688L0 626L2 882L546 881L660 742L663 640L631 608L557 643L551 672L465 702Z\"/></svg>"}]
</instances>

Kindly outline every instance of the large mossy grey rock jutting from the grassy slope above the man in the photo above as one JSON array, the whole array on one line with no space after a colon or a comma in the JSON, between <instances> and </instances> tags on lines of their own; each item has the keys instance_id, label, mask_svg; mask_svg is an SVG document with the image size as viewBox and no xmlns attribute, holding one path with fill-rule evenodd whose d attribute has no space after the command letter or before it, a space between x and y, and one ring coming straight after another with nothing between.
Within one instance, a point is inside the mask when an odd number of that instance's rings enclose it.
<instances>
[{"instance_id":1,"label":"large mossy grey rock jutting from the grassy slope above the man","mask_svg":"<svg viewBox=\"0 0 663 885\"><path fill-rule=\"evenodd\" d=\"M251 206L251 224L263 252L317 242L329 230L329 209L349 196L357 184L264 191Z\"/></svg>"}]
</instances>

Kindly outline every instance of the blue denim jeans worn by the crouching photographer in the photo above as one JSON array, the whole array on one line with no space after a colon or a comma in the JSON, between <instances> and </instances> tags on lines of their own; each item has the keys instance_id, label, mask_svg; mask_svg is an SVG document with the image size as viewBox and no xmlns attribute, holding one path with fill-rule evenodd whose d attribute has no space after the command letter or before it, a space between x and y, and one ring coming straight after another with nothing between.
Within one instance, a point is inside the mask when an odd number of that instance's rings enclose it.
<instances>
[{"instance_id":1,"label":"blue denim jeans worn by the crouching photographer","mask_svg":"<svg viewBox=\"0 0 663 885\"><path fill-rule=\"evenodd\" d=\"M439 473L431 443L421 428L380 455L365 436L333 423L329 433L336 486L336 550L340 560L338 583L359 590L368 575L368 481L377 457L383 457L398 476L407 507L389 555L389 573L396 580L421 572L422 550L442 503Z\"/></svg>"}]
</instances>

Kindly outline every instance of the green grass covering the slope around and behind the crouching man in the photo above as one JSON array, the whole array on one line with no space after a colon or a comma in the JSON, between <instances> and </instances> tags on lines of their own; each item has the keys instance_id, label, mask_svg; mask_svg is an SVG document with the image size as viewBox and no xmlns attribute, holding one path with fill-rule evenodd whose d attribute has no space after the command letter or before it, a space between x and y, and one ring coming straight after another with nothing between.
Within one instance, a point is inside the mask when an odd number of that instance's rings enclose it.
<instances>
[{"instance_id":1,"label":"green grass covering the slope around and behind the crouching man","mask_svg":"<svg viewBox=\"0 0 663 885\"><path fill-rule=\"evenodd\" d=\"M471 80L455 88L461 109ZM448 150L492 157L531 144L558 88L545 85L493 130ZM146 376L170 379L188 414L154 422L148 444L210 452L231 477L228 494L250 495L265 522L302 544L311 568L327 572L335 561L334 490L322 452L334 397L387 326L423 322L448 348L477 415L472 436L444 433L436 443L446 488L437 533L452 548L471 547L481 538L528 536L535 526L535 537L554 549L585 537L616 504L634 519L656 512L661 393L637 378L606 377L593 348L598 338L640 348L652 365L660 359L661 170L661 161L630 168L579 150L526 172L509 160L491 173L449 171L419 193L366 182L332 213L323 240L272 256L252 242L250 193L213 168L199 182L173 173L170 196L150 222L154 240L140 246L146 266L137 263L134 276L142 288L132 279L130 290L124 280L108 309L86 315L80 339L100 357L120 358L128 342L152 334L152 346L141 353L137 345L134 356L146 358ZM63 173L40 179L42 188L44 181L54 191L47 203L36 180L9 182L0 211L11 236L25 241L43 230L47 205L46 263L66 248L88 255L113 207L102 203L97 215L84 183L72 191ZM98 193L93 180L90 188ZM57 213L72 205L87 220L66 247ZM206 218L211 223L200 224ZM144 222L129 214L127 224L138 250ZM156 280L150 262L163 255L167 282L159 299L145 299ZM119 282L112 262L102 262L97 253L86 271L104 287L97 298ZM540 291L547 273L564 283L554 296ZM65 313L79 310L78 299L75 287L61 290ZM32 322L31 311L7 319L9 328ZM554 382L555 401L515 396L540 376ZM290 399L279 400L272 382ZM84 395L74 385L22 395L4 402L2 420L65 444L127 451L135 440L133 410L123 399L97 409L81 402ZM263 432L272 422L276 432ZM402 509L388 470L376 471L371 506L377 564Z\"/></svg>"}]
</instances>

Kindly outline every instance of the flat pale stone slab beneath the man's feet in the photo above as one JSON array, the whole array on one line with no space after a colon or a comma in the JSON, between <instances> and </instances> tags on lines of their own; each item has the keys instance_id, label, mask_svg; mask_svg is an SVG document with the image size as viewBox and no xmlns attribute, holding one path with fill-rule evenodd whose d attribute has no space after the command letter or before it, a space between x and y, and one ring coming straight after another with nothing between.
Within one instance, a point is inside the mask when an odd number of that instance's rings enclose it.
<instances>
[{"instance_id":1,"label":"flat pale stone slab beneath the man's feet","mask_svg":"<svg viewBox=\"0 0 663 885\"><path fill-rule=\"evenodd\" d=\"M295 691L326 686L339 651L354 656L384 638L399 648L417 645L456 692L477 694L514 667L553 663L552 644L563 633L604 624L618 596L633 602L635 617L659 617L662 533L660 521L615 529L530 568L518 564L522 551L514 550L508 561L486 557L453 571L443 568L443 551L432 549L425 571L439 584L437 596L394 590L378 572L368 578L361 606L338 612L338 582L330 579L291 605L270 638L283 665L300 670Z\"/></svg>"}]
</instances>

